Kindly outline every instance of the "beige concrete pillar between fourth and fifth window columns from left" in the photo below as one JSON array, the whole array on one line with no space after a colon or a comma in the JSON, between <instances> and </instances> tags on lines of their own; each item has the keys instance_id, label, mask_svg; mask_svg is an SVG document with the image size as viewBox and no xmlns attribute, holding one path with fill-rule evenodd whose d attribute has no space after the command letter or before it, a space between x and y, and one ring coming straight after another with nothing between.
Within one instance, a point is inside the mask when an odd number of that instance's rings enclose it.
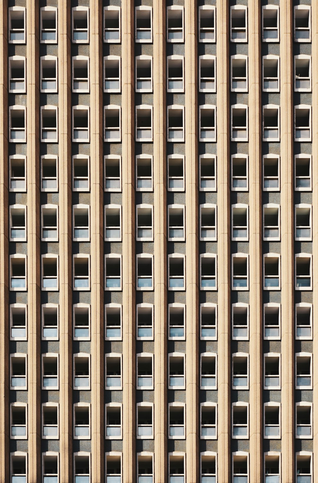
<instances>
[{"instance_id":1,"label":"beige concrete pillar between fourth and fifth window columns from left","mask_svg":"<svg viewBox=\"0 0 318 483\"><path fill-rule=\"evenodd\" d=\"M123 483L136 479L134 2L122 2Z\"/></svg>"}]
</instances>

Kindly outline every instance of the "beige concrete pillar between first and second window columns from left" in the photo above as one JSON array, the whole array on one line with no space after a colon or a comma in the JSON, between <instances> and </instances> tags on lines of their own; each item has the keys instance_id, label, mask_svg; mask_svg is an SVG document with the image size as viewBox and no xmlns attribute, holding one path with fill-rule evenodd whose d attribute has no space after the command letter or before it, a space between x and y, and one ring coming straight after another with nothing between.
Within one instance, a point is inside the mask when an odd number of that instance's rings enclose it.
<instances>
[{"instance_id":1,"label":"beige concrete pillar between first and second window columns from left","mask_svg":"<svg viewBox=\"0 0 318 483\"><path fill-rule=\"evenodd\" d=\"M27 1L28 405L29 483L41 479L39 2Z\"/></svg>"}]
</instances>

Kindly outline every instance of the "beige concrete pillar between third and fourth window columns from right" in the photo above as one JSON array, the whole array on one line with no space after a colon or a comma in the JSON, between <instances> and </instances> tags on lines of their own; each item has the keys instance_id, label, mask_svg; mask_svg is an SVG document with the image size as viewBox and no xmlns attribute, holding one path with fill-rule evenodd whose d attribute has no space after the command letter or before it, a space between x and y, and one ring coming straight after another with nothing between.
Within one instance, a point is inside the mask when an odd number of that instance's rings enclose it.
<instances>
[{"instance_id":1,"label":"beige concrete pillar between third and fourth window columns from right","mask_svg":"<svg viewBox=\"0 0 318 483\"><path fill-rule=\"evenodd\" d=\"M218 482L230 478L230 144L229 1L217 0L217 285L218 285Z\"/></svg>"}]
</instances>

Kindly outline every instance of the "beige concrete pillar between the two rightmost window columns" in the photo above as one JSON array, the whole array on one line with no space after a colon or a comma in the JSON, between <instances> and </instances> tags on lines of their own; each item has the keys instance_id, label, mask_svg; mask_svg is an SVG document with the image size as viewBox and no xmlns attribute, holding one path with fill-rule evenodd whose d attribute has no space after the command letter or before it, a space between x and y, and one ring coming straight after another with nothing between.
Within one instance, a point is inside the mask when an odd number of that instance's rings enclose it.
<instances>
[{"instance_id":1,"label":"beige concrete pillar between the two rightmost window columns","mask_svg":"<svg viewBox=\"0 0 318 483\"><path fill-rule=\"evenodd\" d=\"M292 2L280 3L282 483L294 472L294 246Z\"/></svg>"}]
</instances>

